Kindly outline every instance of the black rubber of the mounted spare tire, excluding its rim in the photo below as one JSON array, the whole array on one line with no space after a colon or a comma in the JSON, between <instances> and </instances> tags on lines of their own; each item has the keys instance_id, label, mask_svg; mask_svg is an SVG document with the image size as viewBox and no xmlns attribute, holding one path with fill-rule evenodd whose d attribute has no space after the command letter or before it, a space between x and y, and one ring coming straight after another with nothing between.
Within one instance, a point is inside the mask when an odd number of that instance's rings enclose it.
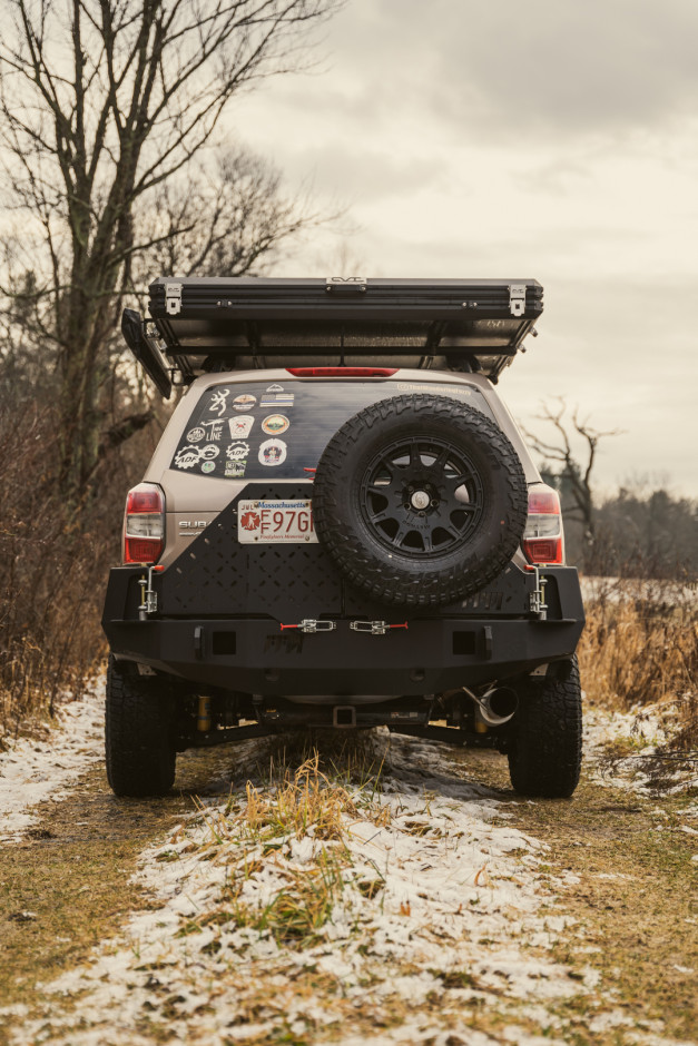
<instances>
[{"instance_id":1,"label":"black rubber of the mounted spare tire, excluding its rim","mask_svg":"<svg viewBox=\"0 0 698 1046\"><path fill-rule=\"evenodd\" d=\"M474 531L441 554L391 550L372 533L363 505L362 483L381 450L415 436L450 443L481 483ZM394 396L354 415L332 437L317 466L313 506L319 540L358 588L391 604L439 604L473 594L505 569L525 525L528 489L515 450L484 413L443 396Z\"/></svg>"}]
</instances>

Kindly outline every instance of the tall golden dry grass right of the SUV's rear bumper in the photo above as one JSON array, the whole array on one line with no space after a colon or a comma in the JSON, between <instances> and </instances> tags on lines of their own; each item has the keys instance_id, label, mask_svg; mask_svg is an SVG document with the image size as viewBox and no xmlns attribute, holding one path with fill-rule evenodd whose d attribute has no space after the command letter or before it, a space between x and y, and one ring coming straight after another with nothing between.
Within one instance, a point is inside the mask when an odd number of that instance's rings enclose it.
<instances>
[{"instance_id":1,"label":"tall golden dry grass right of the SUV's rear bumper","mask_svg":"<svg viewBox=\"0 0 698 1046\"><path fill-rule=\"evenodd\" d=\"M691 589L622 581L587 603L579 645L584 690L615 709L674 705L674 744L698 748L698 601Z\"/></svg>"}]
</instances>

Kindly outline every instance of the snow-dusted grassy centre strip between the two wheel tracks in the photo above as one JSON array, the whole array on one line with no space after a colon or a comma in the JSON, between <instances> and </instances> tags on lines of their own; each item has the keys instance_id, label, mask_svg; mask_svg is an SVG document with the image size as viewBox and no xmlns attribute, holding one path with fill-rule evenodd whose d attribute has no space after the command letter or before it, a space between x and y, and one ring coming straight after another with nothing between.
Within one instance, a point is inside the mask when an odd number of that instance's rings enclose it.
<instances>
[{"instance_id":1,"label":"snow-dusted grassy centre strip between the two wheel tracks","mask_svg":"<svg viewBox=\"0 0 698 1046\"><path fill-rule=\"evenodd\" d=\"M596 975L547 954L568 922L547 848L440 746L374 743L380 791L325 782L324 812L289 827L283 783L240 782L146 850L151 910L46 985L16 1043L543 1042L530 1023L561 1042L548 1006Z\"/></svg>"}]
</instances>

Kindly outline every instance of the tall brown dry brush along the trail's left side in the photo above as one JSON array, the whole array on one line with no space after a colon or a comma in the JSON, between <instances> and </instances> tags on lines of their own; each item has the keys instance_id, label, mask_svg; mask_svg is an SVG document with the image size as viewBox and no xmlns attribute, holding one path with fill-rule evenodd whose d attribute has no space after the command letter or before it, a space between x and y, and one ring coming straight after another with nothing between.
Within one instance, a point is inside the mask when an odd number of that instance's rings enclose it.
<instances>
[{"instance_id":1,"label":"tall brown dry brush along the trail's left side","mask_svg":"<svg viewBox=\"0 0 698 1046\"><path fill-rule=\"evenodd\" d=\"M107 572L119 561L126 491L151 436L139 433L96 472L79 503L58 475L50 406L0 412L0 749L56 703L79 695L106 653Z\"/></svg>"}]
</instances>

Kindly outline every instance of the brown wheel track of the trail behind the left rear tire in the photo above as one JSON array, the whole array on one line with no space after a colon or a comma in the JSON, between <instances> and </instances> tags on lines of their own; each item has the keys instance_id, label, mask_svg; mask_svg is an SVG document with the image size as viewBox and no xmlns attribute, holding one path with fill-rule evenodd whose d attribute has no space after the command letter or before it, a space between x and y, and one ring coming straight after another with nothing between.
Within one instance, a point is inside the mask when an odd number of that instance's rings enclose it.
<instances>
[{"instance_id":1,"label":"brown wheel track of the trail behind the left rear tire","mask_svg":"<svg viewBox=\"0 0 698 1046\"><path fill-rule=\"evenodd\" d=\"M50 981L85 961L150 899L129 881L144 847L194 810L194 796L226 795L230 763L254 761L254 747L186 752L177 793L166 799L117 799L101 767L86 773L62 802L35 809L37 827L19 842L0 843L0 1008L40 1001L37 981ZM263 749L259 758L264 758ZM2 1017L0 1016L0 1042Z\"/></svg>"}]
</instances>

